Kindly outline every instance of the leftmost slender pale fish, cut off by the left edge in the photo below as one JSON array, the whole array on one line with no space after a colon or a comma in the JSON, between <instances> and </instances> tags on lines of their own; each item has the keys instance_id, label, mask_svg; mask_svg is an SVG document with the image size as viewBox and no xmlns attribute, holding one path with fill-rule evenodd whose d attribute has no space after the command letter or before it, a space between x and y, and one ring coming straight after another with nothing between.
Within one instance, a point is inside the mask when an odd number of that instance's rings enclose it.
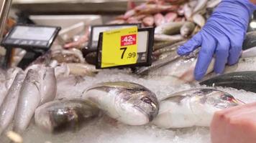
<instances>
[{"instance_id":1,"label":"leftmost slender pale fish, cut off by the left edge","mask_svg":"<svg viewBox=\"0 0 256 143\"><path fill-rule=\"evenodd\" d=\"M4 132L14 118L23 81L24 73L23 71L19 71L0 108L0 134Z\"/></svg>"}]
</instances>

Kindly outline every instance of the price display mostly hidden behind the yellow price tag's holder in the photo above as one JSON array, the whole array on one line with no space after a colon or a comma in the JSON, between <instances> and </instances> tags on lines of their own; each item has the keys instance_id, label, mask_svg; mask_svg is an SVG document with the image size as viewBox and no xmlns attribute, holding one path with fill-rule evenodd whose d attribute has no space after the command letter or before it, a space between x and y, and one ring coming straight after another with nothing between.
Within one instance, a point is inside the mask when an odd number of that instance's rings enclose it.
<instances>
[{"instance_id":1,"label":"price display mostly hidden behind the yellow price tag's holder","mask_svg":"<svg viewBox=\"0 0 256 143\"><path fill-rule=\"evenodd\" d=\"M88 43L88 51L97 51L99 43L99 34L104 31L110 31L115 29L126 29L133 26L140 28L141 24L110 24L110 25L96 25L91 26L91 36Z\"/></svg>"}]
</instances>

